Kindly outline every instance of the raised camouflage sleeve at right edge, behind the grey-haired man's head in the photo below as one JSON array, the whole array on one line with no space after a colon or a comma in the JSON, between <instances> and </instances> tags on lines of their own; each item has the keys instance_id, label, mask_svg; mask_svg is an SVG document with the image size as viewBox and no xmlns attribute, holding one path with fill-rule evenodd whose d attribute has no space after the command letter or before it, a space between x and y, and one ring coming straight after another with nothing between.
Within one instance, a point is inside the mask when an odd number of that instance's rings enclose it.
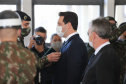
<instances>
[{"instance_id":1,"label":"raised camouflage sleeve at right edge, behind the grey-haired man's head","mask_svg":"<svg viewBox=\"0 0 126 84\"><path fill-rule=\"evenodd\" d=\"M116 40L124 31L126 31L126 25L122 25L120 28L115 29L112 31L109 41L116 42Z\"/></svg>"}]
</instances>

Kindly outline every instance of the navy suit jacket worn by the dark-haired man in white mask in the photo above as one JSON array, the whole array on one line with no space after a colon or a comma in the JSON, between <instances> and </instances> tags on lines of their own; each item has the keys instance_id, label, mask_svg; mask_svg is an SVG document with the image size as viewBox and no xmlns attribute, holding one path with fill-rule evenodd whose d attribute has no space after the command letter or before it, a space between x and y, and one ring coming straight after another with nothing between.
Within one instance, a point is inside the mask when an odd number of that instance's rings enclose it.
<instances>
[{"instance_id":1,"label":"navy suit jacket worn by the dark-haired man in white mask","mask_svg":"<svg viewBox=\"0 0 126 84\"><path fill-rule=\"evenodd\" d=\"M55 64L53 84L79 84L87 65L87 49L75 34L62 46L60 60Z\"/></svg>"}]
</instances>

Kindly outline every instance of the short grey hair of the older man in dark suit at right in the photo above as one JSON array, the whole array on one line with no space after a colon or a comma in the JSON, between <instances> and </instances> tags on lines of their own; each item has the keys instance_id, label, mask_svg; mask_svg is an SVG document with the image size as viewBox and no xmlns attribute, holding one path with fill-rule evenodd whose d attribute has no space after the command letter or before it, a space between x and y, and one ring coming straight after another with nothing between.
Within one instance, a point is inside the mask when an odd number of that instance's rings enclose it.
<instances>
[{"instance_id":1,"label":"short grey hair of the older man in dark suit at right","mask_svg":"<svg viewBox=\"0 0 126 84\"><path fill-rule=\"evenodd\" d=\"M96 32L102 39L109 39L111 31L109 21L103 17L97 18L91 23L91 32Z\"/></svg>"}]
</instances>

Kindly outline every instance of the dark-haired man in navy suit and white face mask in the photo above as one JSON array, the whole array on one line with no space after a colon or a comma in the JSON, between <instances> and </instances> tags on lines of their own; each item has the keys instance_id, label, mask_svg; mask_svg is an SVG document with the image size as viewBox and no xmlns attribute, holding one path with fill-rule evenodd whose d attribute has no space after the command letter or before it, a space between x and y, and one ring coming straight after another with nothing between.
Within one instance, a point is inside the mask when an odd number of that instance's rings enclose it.
<instances>
[{"instance_id":1,"label":"dark-haired man in navy suit and white face mask","mask_svg":"<svg viewBox=\"0 0 126 84\"><path fill-rule=\"evenodd\" d=\"M74 12L60 12L57 34L65 38L55 64L53 84L79 84L87 65L87 50L77 31L78 17Z\"/></svg>"}]
</instances>

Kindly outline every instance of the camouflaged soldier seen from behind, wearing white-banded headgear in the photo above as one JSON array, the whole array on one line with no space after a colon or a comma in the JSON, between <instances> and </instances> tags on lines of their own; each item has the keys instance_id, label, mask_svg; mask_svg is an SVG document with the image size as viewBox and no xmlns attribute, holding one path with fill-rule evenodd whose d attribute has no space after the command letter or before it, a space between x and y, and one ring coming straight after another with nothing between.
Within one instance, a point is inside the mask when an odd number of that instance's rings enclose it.
<instances>
[{"instance_id":1,"label":"camouflaged soldier seen from behind, wearing white-banded headgear","mask_svg":"<svg viewBox=\"0 0 126 84\"><path fill-rule=\"evenodd\" d=\"M36 66L56 62L60 54L49 54L37 64L34 54L17 43L21 20L13 11L0 13L0 84L33 84Z\"/></svg>"}]
</instances>

